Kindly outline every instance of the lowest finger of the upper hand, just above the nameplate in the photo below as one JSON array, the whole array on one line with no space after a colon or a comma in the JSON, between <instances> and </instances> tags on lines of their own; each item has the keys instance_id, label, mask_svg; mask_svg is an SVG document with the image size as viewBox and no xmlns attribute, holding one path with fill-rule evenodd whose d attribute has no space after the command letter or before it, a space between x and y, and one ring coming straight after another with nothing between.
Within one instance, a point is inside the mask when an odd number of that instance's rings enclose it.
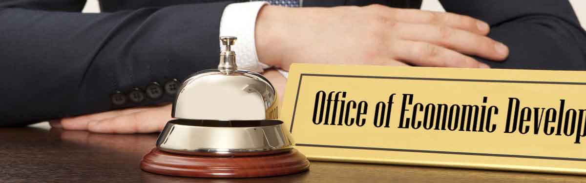
<instances>
[{"instance_id":1,"label":"lowest finger of the upper hand, just above the nameplate","mask_svg":"<svg viewBox=\"0 0 586 183\"><path fill-rule=\"evenodd\" d=\"M391 45L393 59L416 66L489 68L472 57L431 43L397 40Z\"/></svg>"}]
</instances>

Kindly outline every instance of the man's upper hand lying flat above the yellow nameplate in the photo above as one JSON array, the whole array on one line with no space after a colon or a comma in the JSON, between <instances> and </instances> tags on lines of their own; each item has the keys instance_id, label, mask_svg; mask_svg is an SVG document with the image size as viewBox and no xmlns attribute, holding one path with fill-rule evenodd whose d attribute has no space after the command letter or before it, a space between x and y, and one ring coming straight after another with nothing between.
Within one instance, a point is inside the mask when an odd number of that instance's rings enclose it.
<instances>
[{"instance_id":1,"label":"man's upper hand lying flat above the yellow nameplate","mask_svg":"<svg viewBox=\"0 0 586 183\"><path fill-rule=\"evenodd\" d=\"M486 37L489 29L469 16L382 5L264 6L255 39L259 60L285 70L291 63L488 68L466 55L506 59L509 49Z\"/></svg>"}]
</instances>

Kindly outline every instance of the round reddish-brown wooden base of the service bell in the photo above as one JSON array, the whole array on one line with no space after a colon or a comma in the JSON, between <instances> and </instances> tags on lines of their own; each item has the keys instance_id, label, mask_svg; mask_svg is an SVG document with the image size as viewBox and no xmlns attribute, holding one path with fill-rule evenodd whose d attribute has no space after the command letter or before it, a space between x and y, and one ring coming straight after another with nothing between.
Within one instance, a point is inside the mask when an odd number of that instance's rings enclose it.
<instances>
[{"instance_id":1,"label":"round reddish-brown wooden base of the service bell","mask_svg":"<svg viewBox=\"0 0 586 183\"><path fill-rule=\"evenodd\" d=\"M251 157L202 157L165 153L153 148L142 158L141 169L183 177L268 177L309 170L309 161L295 149L288 153Z\"/></svg>"}]
</instances>

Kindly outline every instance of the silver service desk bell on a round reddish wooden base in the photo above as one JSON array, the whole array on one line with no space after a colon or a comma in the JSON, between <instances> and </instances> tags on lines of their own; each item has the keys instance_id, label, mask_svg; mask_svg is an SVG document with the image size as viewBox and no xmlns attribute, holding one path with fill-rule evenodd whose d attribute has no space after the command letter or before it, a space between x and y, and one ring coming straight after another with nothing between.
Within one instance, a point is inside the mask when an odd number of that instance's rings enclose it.
<instances>
[{"instance_id":1,"label":"silver service desk bell on a round reddish wooden base","mask_svg":"<svg viewBox=\"0 0 586 183\"><path fill-rule=\"evenodd\" d=\"M172 117L141 169L184 177L265 177L309 169L309 161L278 118L277 94L263 75L237 70L226 47L218 69L185 80L173 102Z\"/></svg>"}]
</instances>

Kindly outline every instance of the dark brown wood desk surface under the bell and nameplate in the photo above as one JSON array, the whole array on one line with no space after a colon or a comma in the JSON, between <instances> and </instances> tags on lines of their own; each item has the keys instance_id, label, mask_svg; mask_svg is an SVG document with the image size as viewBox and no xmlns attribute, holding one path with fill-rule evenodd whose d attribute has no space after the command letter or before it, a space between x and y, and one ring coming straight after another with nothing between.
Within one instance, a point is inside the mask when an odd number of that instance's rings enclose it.
<instances>
[{"instance_id":1,"label":"dark brown wood desk surface under the bell and nameplate","mask_svg":"<svg viewBox=\"0 0 586 183\"><path fill-rule=\"evenodd\" d=\"M0 182L586 182L573 175L316 161L308 172L280 177L169 177L138 166L155 141L156 134L0 128Z\"/></svg>"}]
</instances>

